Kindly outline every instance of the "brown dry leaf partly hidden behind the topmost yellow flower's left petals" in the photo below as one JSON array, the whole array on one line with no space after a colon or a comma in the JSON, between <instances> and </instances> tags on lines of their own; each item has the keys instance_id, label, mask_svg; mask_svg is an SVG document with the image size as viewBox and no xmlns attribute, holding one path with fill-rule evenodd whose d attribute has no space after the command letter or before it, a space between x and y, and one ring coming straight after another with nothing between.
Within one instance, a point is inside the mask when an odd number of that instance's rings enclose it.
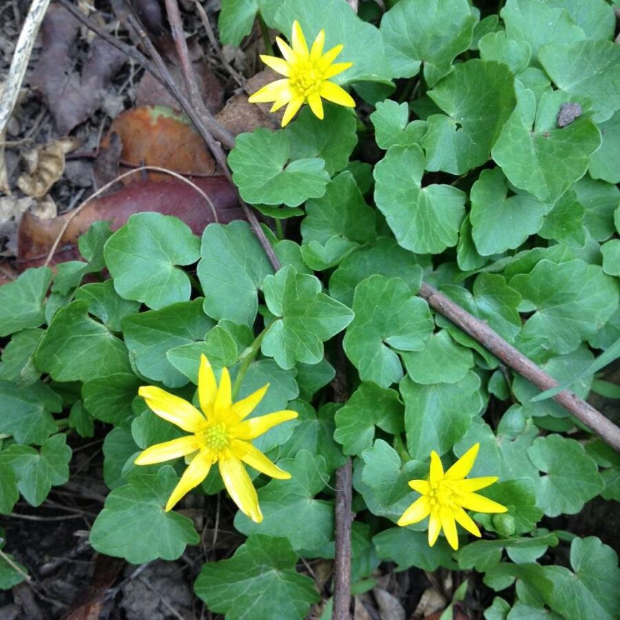
<instances>
[{"instance_id":1,"label":"brown dry leaf partly hidden behind the topmost yellow flower's left petals","mask_svg":"<svg viewBox=\"0 0 620 620\"><path fill-rule=\"evenodd\" d=\"M216 121L227 128L233 134L252 132L256 127L267 127L270 130L280 128L284 109L271 113L271 103L249 103L249 94L256 92L269 82L279 79L281 76L271 69L265 69L249 79L245 85L246 92L240 92L232 96L224 109L216 114Z\"/></svg>"}]
</instances>

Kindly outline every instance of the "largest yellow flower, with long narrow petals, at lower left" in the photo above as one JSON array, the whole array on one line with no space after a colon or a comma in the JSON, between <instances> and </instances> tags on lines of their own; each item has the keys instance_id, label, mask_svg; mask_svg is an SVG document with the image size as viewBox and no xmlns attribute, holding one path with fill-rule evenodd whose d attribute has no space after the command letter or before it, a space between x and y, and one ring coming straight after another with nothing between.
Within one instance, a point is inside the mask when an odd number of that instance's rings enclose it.
<instances>
[{"instance_id":1,"label":"largest yellow flower, with long narrow petals, at lower left","mask_svg":"<svg viewBox=\"0 0 620 620\"><path fill-rule=\"evenodd\" d=\"M252 521L262 521L256 489L242 462L272 478L290 478L289 473L274 465L250 442L269 431L272 426L297 417L296 411L285 410L245 420L268 388L269 384L233 403L228 370L222 369L218 388L211 364L205 355L201 355L198 400L202 413L187 400L158 387L149 385L139 389L138 393L156 415L192 433L151 446L134 461L137 465L151 465L192 455L191 462L168 499L166 511L171 510L183 495L203 482L211 465L217 462L224 485L235 504Z\"/></svg>"}]
</instances>

